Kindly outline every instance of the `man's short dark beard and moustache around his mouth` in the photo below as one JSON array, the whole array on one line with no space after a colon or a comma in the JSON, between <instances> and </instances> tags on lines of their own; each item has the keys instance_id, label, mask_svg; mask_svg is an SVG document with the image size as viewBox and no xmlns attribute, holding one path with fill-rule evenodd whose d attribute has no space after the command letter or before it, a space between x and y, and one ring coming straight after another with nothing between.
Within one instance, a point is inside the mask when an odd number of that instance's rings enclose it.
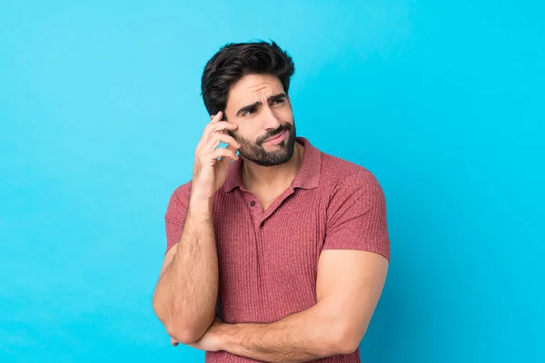
<instances>
[{"instance_id":1,"label":"man's short dark beard and moustache around his mouth","mask_svg":"<svg viewBox=\"0 0 545 363\"><path fill-rule=\"evenodd\" d=\"M267 151L263 148L263 142L284 131L288 132L288 136L283 139L282 142L274 145L276 150ZM241 144L241 148L239 149L240 154L249 161L255 162L257 165L280 165L284 162L289 162L292 159L296 137L295 121L293 121L293 125L290 123L283 123L278 129L267 132L255 142L244 139L235 132L229 131L228 133L234 140Z\"/></svg>"}]
</instances>

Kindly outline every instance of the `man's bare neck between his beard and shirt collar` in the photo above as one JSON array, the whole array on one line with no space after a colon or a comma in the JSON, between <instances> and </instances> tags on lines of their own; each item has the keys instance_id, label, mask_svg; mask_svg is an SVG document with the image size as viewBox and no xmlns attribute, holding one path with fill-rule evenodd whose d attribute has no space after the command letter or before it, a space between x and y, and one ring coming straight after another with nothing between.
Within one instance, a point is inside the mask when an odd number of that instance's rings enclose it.
<instances>
[{"instance_id":1,"label":"man's bare neck between his beard and shirt collar","mask_svg":"<svg viewBox=\"0 0 545 363\"><path fill-rule=\"evenodd\" d=\"M299 171L303 146L295 142L292 159L281 165L260 166L243 158L243 185L248 191L284 190Z\"/></svg>"}]
</instances>

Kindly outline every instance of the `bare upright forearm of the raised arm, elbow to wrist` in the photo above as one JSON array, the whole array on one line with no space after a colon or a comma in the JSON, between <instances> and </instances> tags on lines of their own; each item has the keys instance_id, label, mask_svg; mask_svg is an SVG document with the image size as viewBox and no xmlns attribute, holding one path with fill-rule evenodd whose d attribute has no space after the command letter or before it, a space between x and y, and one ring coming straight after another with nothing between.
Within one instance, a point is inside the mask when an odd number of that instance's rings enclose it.
<instances>
[{"instance_id":1,"label":"bare upright forearm of the raised arm, elbow to wrist","mask_svg":"<svg viewBox=\"0 0 545 363\"><path fill-rule=\"evenodd\" d=\"M155 290L157 316L173 338L191 342L212 323L217 291L212 202L192 200L173 260Z\"/></svg>"}]
</instances>

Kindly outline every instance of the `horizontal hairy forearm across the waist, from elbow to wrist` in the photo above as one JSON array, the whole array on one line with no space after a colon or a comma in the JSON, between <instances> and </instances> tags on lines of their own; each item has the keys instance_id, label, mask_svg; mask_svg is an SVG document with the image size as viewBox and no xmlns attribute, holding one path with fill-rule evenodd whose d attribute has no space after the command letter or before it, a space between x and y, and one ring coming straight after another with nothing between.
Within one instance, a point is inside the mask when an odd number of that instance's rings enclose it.
<instances>
[{"instance_id":1,"label":"horizontal hairy forearm across the waist, from elbow to wrist","mask_svg":"<svg viewBox=\"0 0 545 363\"><path fill-rule=\"evenodd\" d=\"M223 350L266 362L305 362L350 353L339 319L315 305L271 324L223 324Z\"/></svg>"}]
</instances>

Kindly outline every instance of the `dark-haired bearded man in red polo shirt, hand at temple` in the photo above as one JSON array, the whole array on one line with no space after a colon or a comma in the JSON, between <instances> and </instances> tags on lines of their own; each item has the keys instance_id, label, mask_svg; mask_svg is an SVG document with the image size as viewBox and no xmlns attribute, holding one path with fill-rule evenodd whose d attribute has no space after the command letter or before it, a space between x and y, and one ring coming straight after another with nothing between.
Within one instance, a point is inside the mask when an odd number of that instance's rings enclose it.
<instances>
[{"instance_id":1,"label":"dark-haired bearded man in red polo shirt, hand at temple","mask_svg":"<svg viewBox=\"0 0 545 363\"><path fill-rule=\"evenodd\" d=\"M154 310L207 362L359 362L386 279L381 186L296 137L293 72L274 42L227 44L204 68L211 122L167 207Z\"/></svg>"}]
</instances>

